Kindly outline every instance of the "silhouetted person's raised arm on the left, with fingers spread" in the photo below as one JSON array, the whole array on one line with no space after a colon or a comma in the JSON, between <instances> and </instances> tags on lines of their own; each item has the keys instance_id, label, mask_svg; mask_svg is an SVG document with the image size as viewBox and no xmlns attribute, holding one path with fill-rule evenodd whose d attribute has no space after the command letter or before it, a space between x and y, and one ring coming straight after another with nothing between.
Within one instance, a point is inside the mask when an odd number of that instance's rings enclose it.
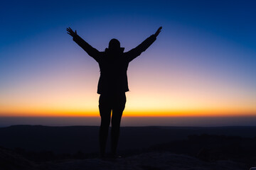
<instances>
[{"instance_id":1,"label":"silhouetted person's raised arm on the left, with fingers spread","mask_svg":"<svg viewBox=\"0 0 256 170\"><path fill-rule=\"evenodd\" d=\"M71 35L73 37L73 40L80 46L82 47L83 50L85 50L85 52L87 52L88 55L90 55L91 57L93 57L96 61L99 60L99 56L100 56L100 52L95 49L94 47L92 47L91 45L89 45L85 40L83 40L82 38L80 38L80 36L78 35L77 31L75 30L75 32L69 27L67 28L68 34Z\"/></svg>"}]
</instances>

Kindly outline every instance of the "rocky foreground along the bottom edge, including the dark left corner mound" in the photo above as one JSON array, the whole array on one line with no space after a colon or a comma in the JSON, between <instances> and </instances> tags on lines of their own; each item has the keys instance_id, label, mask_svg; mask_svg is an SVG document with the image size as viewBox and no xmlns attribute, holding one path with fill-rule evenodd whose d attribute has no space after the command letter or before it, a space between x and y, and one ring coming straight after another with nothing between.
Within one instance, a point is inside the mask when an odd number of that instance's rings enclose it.
<instances>
[{"instance_id":1,"label":"rocky foreground along the bottom edge, including the dark left corner mound","mask_svg":"<svg viewBox=\"0 0 256 170\"><path fill-rule=\"evenodd\" d=\"M244 170L244 164L231 161L203 162L195 157L170 152L149 152L121 159L69 159L35 163L9 149L0 149L1 170Z\"/></svg>"}]
</instances>

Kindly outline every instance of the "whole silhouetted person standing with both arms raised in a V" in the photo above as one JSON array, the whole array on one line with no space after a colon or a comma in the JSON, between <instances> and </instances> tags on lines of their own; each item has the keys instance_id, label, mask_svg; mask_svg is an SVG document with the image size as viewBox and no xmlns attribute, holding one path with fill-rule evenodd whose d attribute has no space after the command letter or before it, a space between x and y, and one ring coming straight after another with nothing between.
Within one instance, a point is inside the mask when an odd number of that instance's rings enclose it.
<instances>
[{"instance_id":1,"label":"whole silhouetted person standing with both arms raised in a V","mask_svg":"<svg viewBox=\"0 0 256 170\"><path fill-rule=\"evenodd\" d=\"M120 47L120 42L117 39L110 40L109 47L104 52L99 52L85 40L82 40L76 30L74 32L71 28L67 28L67 31L73 37L73 40L99 63L100 79L97 86L97 94L100 94L100 154L101 157L105 156L111 120L112 155L116 157L120 122L126 103L125 92L129 91L127 81L128 64L156 40L156 36L161 32L161 27L156 30L154 35L146 38L144 42L128 52L124 52L124 47Z\"/></svg>"}]
</instances>

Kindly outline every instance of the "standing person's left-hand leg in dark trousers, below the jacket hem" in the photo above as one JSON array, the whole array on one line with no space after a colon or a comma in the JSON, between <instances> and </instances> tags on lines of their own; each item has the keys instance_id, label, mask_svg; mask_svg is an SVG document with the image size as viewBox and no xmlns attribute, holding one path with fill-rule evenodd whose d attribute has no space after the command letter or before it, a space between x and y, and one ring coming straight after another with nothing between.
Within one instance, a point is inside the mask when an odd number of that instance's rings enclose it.
<instances>
[{"instance_id":1,"label":"standing person's left-hand leg in dark trousers, below the jacket hem","mask_svg":"<svg viewBox=\"0 0 256 170\"><path fill-rule=\"evenodd\" d=\"M101 118L100 132L99 132L100 156L105 157L107 135L110 127L110 118L111 118L110 100L108 100L107 96L100 95L99 109L100 109L100 118Z\"/></svg>"}]
</instances>

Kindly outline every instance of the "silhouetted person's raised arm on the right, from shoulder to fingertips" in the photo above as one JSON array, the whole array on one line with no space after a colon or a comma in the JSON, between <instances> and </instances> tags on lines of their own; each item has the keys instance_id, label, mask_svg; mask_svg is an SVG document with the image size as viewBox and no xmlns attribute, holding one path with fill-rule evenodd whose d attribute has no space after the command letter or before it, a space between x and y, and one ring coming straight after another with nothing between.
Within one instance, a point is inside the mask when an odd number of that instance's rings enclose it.
<instances>
[{"instance_id":1,"label":"silhouetted person's raised arm on the right, from shoulder to fingertips","mask_svg":"<svg viewBox=\"0 0 256 170\"><path fill-rule=\"evenodd\" d=\"M131 62L132 60L134 60L134 58L141 55L142 52L144 52L156 40L156 37L161 32L161 28L162 27L159 27L158 30L156 30L156 33L151 35L149 38L146 38L146 40L144 40L140 45L138 45L132 50L129 50L129 52L125 52L129 62Z\"/></svg>"}]
</instances>

